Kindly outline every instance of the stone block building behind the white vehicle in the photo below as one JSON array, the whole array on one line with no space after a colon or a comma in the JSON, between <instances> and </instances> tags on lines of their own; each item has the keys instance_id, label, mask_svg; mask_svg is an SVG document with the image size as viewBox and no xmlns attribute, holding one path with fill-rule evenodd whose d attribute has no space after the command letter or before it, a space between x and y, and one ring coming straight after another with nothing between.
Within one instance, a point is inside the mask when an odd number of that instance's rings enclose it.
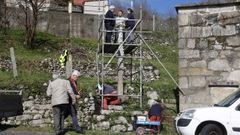
<instances>
[{"instance_id":1,"label":"stone block building behind the white vehicle","mask_svg":"<svg viewBox=\"0 0 240 135\"><path fill-rule=\"evenodd\" d=\"M218 102L240 81L240 2L176 6L180 110Z\"/></svg>"}]
</instances>

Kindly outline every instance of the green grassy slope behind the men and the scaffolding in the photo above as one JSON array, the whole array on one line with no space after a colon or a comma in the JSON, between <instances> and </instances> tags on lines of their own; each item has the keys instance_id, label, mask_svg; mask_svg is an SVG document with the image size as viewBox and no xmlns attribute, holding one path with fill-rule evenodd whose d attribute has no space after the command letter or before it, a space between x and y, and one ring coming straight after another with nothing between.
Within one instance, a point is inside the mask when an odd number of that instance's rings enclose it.
<instances>
[{"instance_id":1,"label":"green grassy slope behind the men and the scaffolding","mask_svg":"<svg viewBox=\"0 0 240 135\"><path fill-rule=\"evenodd\" d=\"M18 85L29 85L29 88L38 89L43 83L48 82L50 74L46 71L36 71L34 63L44 60L45 58L56 59L59 57L61 50L64 48L81 48L84 53L81 56L73 55L74 59L78 59L81 63L93 62L95 60L95 51L97 50L97 42L95 40L84 40L74 38L71 40L72 46L66 45L66 40L61 36L54 36L47 33L38 33L36 37L36 48L34 50L24 47L24 32L21 30L12 30L7 36L0 34L0 57L9 58L9 48L13 46L16 52L18 78L12 78L12 72L0 70L0 88L10 87L16 89ZM157 44L151 45L152 49L160 54L161 62L166 66L168 71L177 78L177 48L176 46L162 46ZM145 50L148 50L145 48ZM79 54L78 53L78 54ZM86 60L87 59L87 60ZM162 66L156 61L144 61L146 64L151 64L160 70L160 80L145 83L151 86L154 90L158 90L164 98L173 97L173 90L176 85L167 75ZM96 77L80 78L80 87L83 90L91 90L96 84ZM33 92L34 93L34 92ZM36 91L35 93L39 93Z\"/></svg>"}]
</instances>

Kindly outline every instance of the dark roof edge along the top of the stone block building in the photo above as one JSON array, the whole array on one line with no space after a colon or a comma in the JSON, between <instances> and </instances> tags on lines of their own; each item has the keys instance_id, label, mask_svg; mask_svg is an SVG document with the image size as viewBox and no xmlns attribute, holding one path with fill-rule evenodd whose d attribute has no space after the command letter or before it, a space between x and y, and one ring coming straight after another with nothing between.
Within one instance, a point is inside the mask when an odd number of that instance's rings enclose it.
<instances>
[{"instance_id":1,"label":"dark roof edge along the top of the stone block building","mask_svg":"<svg viewBox=\"0 0 240 135\"><path fill-rule=\"evenodd\" d=\"M226 6L236 6L240 5L239 2L224 2L224 3L193 3L193 4L181 4L181 5L176 5L175 9L178 12L179 10L182 9L195 9L195 8L206 8L206 7L226 7Z\"/></svg>"}]
</instances>

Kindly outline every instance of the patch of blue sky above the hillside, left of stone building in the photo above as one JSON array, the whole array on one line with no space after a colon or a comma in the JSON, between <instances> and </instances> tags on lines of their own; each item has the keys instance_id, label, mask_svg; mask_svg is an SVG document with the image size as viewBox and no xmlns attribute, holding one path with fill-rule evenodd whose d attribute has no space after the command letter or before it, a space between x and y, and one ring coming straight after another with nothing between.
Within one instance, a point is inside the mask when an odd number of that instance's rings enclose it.
<instances>
[{"instance_id":1,"label":"patch of blue sky above the hillside, left of stone building","mask_svg":"<svg viewBox=\"0 0 240 135\"><path fill-rule=\"evenodd\" d=\"M131 0L110 0L124 2L127 5L130 5ZM134 0L133 0L134 1ZM175 5L177 4L190 4L190 3L198 3L201 0L135 0L139 1L147 1L148 6L157 11L160 14L168 14L169 12L175 12Z\"/></svg>"}]
</instances>

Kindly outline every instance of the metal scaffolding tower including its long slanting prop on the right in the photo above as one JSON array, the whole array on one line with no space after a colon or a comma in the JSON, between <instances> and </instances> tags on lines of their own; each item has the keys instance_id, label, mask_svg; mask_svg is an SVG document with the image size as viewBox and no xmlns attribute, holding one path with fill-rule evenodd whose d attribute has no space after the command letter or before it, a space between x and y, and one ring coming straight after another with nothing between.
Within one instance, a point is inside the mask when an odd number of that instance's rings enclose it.
<instances>
[{"instance_id":1,"label":"metal scaffolding tower including its long slanting prop on the right","mask_svg":"<svg viewBox=\"0 0 240 135\"><path fill-rule=\"evenodd\" d=\"M100 1L99 0L99 11L100 11ZM104 12L104 11L103 11ZM125 37L124 41L122 43L105 43L105 33L106 32L117 32L116 30L106 30L104 26L104 20L112 20L109 18L104 17L104 13L99 14L99 19L98 19L98 49L96 53L96 64L97 64L97 76L98 76L98 84L101 84L103 87L103 84L105 83L104 79L106 76L106 69L109 67L109 64L113 62L114 58L122 58L122 59L130 59L131 60L131 80L130 84L133 84L133 75L134 74L139 74L139 92L138 94L135 93L135 95L129 95L129 94L118 94L118 97L132 97L132 98L139 98L140 102L140 108L143 106L143 45L146 45L146 47L150 50L151 54L156 58L156 60L159 62L159 64L163 67L165 72L169 75L169 77L172 79L173 83L179 88L179 91L185 95L183 90L180 88L178 85L177 81L173 78L173 76L169 73L167 68L164 66L164 64L160 61L160 59L157 57L155 52L151 49L151 47L147 44L147 42L144 40L142 34L143 34L143 25L142 25L142 19L143 19L143 14L142 14L142 5L140 7L140 19L128 19L129 21L136 21L136 24L133 29L130 31L128 30L123 30L123 32L128 33L127 36ZM115 20L115 19L114 19ZM139 26L139 30L135 30ZM127 39L129 36L134 32L135 35L135 41L132 43L127 43ZM108 47L108 48L107 48ZM106 49L107 48L107 49ZM120 50L124 50L124 55L123 56L118 56L117 54L120 52ZM136 57L133 56L132 54L138 51L138 56ZM126 54L126 55L125 55ZM110 58L108 62L105 62L105 58ZM132 61L133 59L137 59L139 61L139 71L133 73L132 72ZM118 65L119 66L119 65ZM102 107L103 107L103 98L104 94L99 93L102 99Z\"/></svg>"}]
</instances>

